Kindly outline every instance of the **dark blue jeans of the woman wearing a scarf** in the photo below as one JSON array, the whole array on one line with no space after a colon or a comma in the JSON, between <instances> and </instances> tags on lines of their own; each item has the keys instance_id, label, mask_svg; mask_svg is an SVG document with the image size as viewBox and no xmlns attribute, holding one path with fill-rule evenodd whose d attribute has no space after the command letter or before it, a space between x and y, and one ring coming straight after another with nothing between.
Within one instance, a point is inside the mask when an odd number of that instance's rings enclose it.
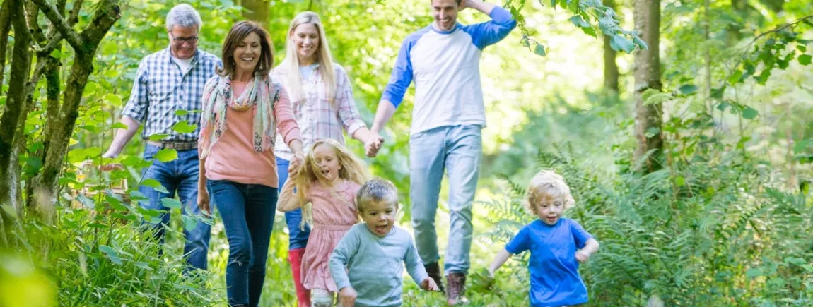
<instances>
[{"instance_id":1,"label":"dark blue jeans of the woman wearing a scarf","mask_svg":"<svg viewBox=\"0 0 813 307\"><path fill-rule=\"evenodd\" d=\"M228 305L257 306L263 292L277 189L228 180L208 180L207 188L228 238Z\"/></svg>"}]
</instances>

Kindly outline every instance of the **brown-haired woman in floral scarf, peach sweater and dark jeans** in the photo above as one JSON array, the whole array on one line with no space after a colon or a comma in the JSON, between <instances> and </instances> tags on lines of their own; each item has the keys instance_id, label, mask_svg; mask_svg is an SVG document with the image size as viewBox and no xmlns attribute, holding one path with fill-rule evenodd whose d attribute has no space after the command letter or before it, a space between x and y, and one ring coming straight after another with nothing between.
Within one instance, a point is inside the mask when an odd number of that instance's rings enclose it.
<instances>
[{"instance_id":1,"label":"brown-haired woman in floral scarf, peach sweater and dark jeans","mask_svg":"<svg viewBox=\"0 0 813 307\"><path fill-rule=\"evenodd\" d=\"M276 133L293 151L291 171L302 162L302 136L288 95L269 76L271 39L259 24L235 24L222 60L203 90L198 205L211 213L211 196L223 218L228 304L253 307L263 291L276 211Z\"/></svg>"}]
</instances>

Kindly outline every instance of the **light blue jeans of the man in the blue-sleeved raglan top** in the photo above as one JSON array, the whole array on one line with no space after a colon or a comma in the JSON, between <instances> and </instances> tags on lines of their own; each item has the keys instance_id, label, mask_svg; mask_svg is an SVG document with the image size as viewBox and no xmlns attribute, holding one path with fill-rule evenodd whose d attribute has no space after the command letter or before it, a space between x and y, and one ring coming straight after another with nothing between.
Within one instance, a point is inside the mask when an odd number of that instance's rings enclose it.
<instances>
[{"instance_id":1,"label":"light blue jeans of the man in the blue-sleeved raglan top","mask_svg":"<svg viewBox=\"0 0 813 307\"><path fill-rule=\"evenodd\" d=\"M437 263L435 214L446 169L449 176L449 244L444 270L466 274L472 249L472 201L482 155L482 128L444 126L410 137L410 198L415 245L424 265Z\"/></svg>"}]
</instances>

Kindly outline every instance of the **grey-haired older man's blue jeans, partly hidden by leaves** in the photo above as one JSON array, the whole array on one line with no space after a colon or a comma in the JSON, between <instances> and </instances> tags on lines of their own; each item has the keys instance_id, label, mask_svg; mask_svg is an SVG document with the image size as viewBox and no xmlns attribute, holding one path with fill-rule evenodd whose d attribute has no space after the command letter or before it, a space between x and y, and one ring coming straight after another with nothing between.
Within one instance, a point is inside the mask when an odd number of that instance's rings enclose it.
<instances>
[{"instance_id":1,"label":"grey-haired older man's blue jeans, partly hidden by leaves","mask_svg":"<svg viewBox=\"0 0 813 307\"><path fill-rule=\"evenodd\" d=\"M147 144L144 149L144 159L152 161L152 165L141 171L142 180L155 179L167 189L169 193L155 191L154 188L141 185L138 191L144 194L150 201L140 201L141 206L147 210L160 210L161 223L152 224L155 237L161 244L164 241L164 226L169 224L169 210L163 205L161 199L164 197L173 198L178 195L181 210L185 215L200 214L198 208L198 171L199 162L198 149L178 150L178 158L170 162L160 162L154 160L153 156L160 150L159 146ZM162 225L163 224L163 225ZM207 252L209 249L209 238L211 227L207 223L198 221L192 231L184 228L184 255L189 266L201 270L207 269Z\"/></svg>"}]
</instances>

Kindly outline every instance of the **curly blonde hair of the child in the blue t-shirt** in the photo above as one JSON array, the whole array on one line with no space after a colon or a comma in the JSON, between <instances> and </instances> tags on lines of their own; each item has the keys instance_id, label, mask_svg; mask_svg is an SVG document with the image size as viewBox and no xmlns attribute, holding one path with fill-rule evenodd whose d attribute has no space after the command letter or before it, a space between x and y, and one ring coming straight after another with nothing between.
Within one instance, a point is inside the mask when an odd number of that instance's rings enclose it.
<instances>
[{"instance_id":1,"label":"curly blonde hair of the child in the blue t-shirt","mask_svg":"<svg viewBox=\"0 0 813 307\"><path fill-rule=\"evenodd\" d=\"M533 175L528 189L525 192L525 209L531 214L537 214L534 204L540 201L561 200L564 209L572 207L576 201L570 193L570 187L564 178L553 170L541 170Z\"/></svg>"}]
</instances>

